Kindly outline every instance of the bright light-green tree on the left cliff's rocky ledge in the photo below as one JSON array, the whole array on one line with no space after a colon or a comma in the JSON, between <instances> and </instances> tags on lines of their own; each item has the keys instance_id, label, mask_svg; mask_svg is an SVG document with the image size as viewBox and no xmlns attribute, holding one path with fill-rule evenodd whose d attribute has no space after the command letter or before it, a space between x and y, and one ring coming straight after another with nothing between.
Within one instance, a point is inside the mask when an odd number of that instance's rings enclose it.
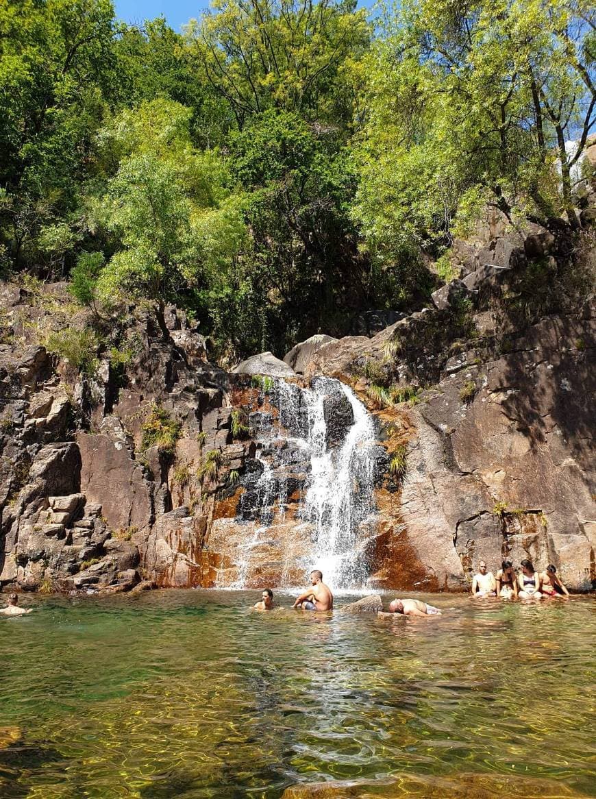
<instances>
[{"instance_id":1,"label":"bright light-green tree on the left cliff's rocky ledge","mask_svg":"<svg viewBox=\"0 0 596 799\"><path fill-rule=\"evenodd\" d=\"M241 198L228 188L217 153L193 147L191 116L178 103L154 100L99 134L105 163L117 164L94 205L97 223L117 242L97 280L105 303L147 298L161 319L166 302L208 287L240 252Z\"/></svg>"}]
</instances>

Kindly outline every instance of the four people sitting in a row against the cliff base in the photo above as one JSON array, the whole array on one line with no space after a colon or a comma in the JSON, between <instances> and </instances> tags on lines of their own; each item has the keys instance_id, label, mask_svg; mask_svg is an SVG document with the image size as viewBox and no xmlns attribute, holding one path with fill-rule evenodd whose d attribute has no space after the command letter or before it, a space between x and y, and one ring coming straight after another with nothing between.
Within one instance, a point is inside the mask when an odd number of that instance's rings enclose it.
<instances>
[{"instance_id":1,"label":"four people sitting in a row against the cliff base","mask_svg":"<svg viewBox=\"0 0 596 799\"><path fill-rule=\"evenodd\" d=\"M486 561L478 564L479 572L472 580L472 596L503 597L503 599L539 599L569 596L569 591L557 576L556 566L550 563L540 574L530 560L522 560L522 570L515 574L511 560L504 560L497 574L487 571Z\"/></svg>"}]
</instances>

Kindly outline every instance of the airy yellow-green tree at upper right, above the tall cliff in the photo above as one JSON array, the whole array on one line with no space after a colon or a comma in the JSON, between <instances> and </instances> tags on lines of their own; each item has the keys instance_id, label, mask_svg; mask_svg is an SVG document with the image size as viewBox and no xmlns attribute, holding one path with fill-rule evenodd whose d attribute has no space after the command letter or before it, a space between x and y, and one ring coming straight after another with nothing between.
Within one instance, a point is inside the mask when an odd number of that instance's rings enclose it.
<instances>
[{"instance_id":1,"label":"airy yellow-green tree at upper right, above the tall cliff","mask_svg":"<svg viewBox=\"0 0 596 799\"><path fill-rule=\"evenodd\" d=\"M577 225L570 175L595 121L593 25L583 0L400 6L370 56L358 148L356 218L376 258L444 241L487 203L514 224L564 211Z\"/></svg>"}]
</instances>

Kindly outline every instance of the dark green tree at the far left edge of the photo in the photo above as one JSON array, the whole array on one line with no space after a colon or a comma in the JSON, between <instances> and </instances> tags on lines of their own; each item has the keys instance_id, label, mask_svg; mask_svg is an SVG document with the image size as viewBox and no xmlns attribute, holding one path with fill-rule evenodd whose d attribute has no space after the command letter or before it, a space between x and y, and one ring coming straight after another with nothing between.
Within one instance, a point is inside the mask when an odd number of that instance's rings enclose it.
<instances>
[{"instance_id":1,"label":"dark green tree at the far left edge of the photo","mask_svg":"<svg viewBox=\"0 0 596 799\"><path fill-rule=\"evenodd\" d=\"M17 264L63 271L77 187L112 65L109 0L0 6L0 235ZM1 243L1 242L0 242Z\"/></svg>"}]
</instances>

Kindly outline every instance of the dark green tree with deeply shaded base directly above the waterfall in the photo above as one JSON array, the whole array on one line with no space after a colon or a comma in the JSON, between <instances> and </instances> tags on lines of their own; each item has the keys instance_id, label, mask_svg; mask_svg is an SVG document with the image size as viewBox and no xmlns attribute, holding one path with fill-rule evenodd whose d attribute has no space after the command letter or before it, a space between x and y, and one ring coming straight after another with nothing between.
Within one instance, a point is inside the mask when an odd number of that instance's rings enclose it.
<instances>
[{"instance_id":1,"label":"dark green tree with deeply shaded base directly above the waterfall","mask_svg":"<svg viewBox=\"0 0 596 799\"><path fill-rule=\"evenodd\" d=\"M345 330L364 293L365 264L349 217L356 189L348 150L298 114L251 117L230 144L248 193L252 250L244 259L256 303L253 348L281 352L322 326Z\"/></svg>"}]
</instances>

